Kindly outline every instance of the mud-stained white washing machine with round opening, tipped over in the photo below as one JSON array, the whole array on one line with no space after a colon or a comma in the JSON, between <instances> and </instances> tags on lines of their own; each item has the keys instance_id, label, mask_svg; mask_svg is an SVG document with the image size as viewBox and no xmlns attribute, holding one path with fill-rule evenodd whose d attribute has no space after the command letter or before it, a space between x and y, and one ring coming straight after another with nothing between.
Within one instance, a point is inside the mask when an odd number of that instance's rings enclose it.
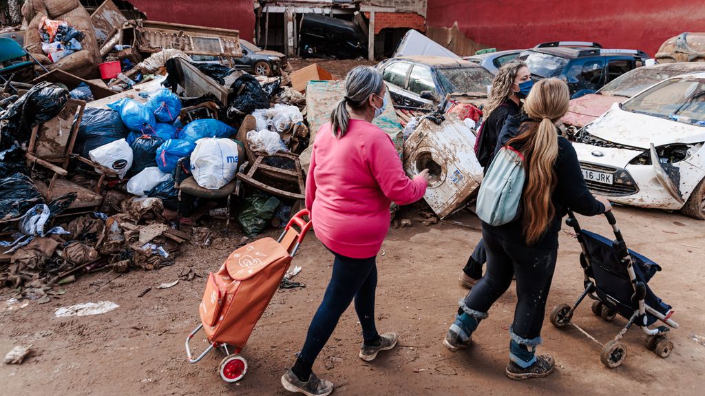
<instances>
[{"instance_id":1,"label":"mud-stained white washing machine with round opening, tipped over","mask_svg":"<svg viewBox=\"0 0 705 396\"><path fill-rule=\"evenodd\" d=\"M482 166L474 145L472 130L450 116L440 125L423 118L404 143L404 170L413 177L429 169L432 179L424 199L441 219L477 195Z\"/></svg>"}]
</instances>

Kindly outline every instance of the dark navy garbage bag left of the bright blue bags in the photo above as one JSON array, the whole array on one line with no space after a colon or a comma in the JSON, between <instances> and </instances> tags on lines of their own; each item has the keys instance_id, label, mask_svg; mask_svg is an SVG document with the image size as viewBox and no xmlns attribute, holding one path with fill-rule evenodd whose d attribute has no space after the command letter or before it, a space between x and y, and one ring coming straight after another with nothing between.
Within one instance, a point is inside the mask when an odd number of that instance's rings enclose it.
<instances>
[{"instance_id":1,"label":"dark navy garbage bag left of the bright blue bags","mask_svg":"<svg viewBox=\"0 0 705 396\"><path fill-rule=\"evenodd\" d=\"M90 158L89 151L123 139L129 132L117 111L88 107L83 111L73 151Z\"/></svg>"}]
</instances>

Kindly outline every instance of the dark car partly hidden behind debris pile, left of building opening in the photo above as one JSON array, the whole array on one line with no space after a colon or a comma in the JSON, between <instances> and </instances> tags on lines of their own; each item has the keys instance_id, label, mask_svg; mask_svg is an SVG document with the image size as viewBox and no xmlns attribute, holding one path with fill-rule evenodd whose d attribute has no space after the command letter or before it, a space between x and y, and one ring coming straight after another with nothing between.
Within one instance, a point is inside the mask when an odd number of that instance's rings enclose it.
<instances>
[{"instance_id":1,"label":"dark car partly hidden behind debris pile, left of building opening","mask_svg":"<svg viewBox=\"0 0 705 396\"><path fill-rule=\"evenodd\" d=\"M241 58L207 55L192 55L191 58L195 62L218 62L254 75L271 76L281 74L282 70L289 71L286 56L281 52L261 49L243 39L240 39L240 48L243 50Z\"/></svg>"}]
</instances>

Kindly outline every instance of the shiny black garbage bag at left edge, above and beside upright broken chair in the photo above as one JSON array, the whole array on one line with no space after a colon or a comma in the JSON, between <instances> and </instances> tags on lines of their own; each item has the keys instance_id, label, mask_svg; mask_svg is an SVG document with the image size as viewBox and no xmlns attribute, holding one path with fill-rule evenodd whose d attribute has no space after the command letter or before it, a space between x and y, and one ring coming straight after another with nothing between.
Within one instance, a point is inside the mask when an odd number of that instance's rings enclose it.
<instances>
[{"instance_id":1,"label":"shiny black garbage bag at left edge, above and beside upright broken chair","mask_svg":"<svg viewBox=\"0 0 705 396\"><path fill-rule=\"evenodd\" d=\"M51 82L39 82L20 99L0 113L6 120L0 132L0 148L10 147L14 142L25 144L30 140L32 127L56 117L66 106L68 91Z\"/></svg>"}]
</instances>

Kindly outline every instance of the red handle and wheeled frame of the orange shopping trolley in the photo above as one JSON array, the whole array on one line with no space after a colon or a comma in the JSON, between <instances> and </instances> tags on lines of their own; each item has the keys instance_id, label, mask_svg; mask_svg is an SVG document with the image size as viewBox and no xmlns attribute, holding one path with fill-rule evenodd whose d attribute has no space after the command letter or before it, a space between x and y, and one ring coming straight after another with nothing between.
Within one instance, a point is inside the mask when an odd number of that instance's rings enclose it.
<instances>
[{"instance_id":1,"label":"red handle and wheeled frame of the orange shopping trolley","mask_svg":"<svg viewBox=\"0 0 705 396\"><path fill-rule=\"evenodd\" d=\"M309 216L309 211L307 209L302 209L297 214L295 214L284 228L283 232L279 236L278 242L287 248L288 255L293 259L298 251L301 243L312 227L310 221L305 221L304 217ZM296 225L299 230L293 227ZM203 323L198 325L189 335L186 337L185 347L186 356L189 363L198 363L203 359L209 352L214 348L218 348L223 352L226 357L219 364L219 373L221 378L228 383L237 382L242 379L247 373L247 360L240 355L245 345L228 345L225 342L210 342L210 345L197 357L191 352L189 347L190 340L203 328ZM232 348L232 351L231 349ZM232 352L232 353L231 353Z\"/></svg>"}]
</instances>

